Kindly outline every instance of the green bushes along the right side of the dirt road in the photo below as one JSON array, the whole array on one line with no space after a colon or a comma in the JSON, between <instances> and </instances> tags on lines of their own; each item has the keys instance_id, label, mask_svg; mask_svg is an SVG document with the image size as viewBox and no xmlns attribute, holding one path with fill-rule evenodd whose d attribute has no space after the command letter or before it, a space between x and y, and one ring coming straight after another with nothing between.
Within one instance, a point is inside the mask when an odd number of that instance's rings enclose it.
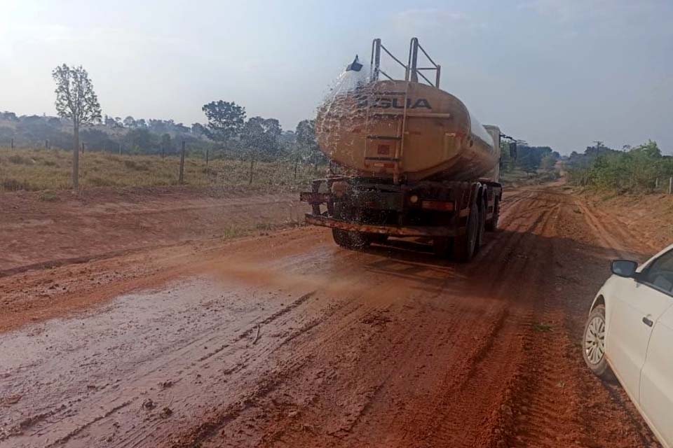
<instances>
[{"instance_id":1,"label":"green bushes along the right side of the dirt road","mask_svg":"<svg viewBox=\"0 0 673 448\"><path fill-rule=\"evenodd\" d=\"M619 195L668 192L673 176L673 157L662 155L655 141L623 151L587 148L571 154L564 166L571 184Z\"/></svg>"}]
</instances>

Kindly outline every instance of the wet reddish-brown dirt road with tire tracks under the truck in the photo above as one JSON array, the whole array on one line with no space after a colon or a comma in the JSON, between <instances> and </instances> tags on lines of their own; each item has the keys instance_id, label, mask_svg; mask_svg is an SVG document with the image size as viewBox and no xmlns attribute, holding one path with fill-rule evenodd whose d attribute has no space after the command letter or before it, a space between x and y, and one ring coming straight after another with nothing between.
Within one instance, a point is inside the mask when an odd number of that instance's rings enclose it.
<instances>
[{"instance_id":1,"label":"wet reddish-brown dirt road with tire tracks under the truck","mask_svg":"<svg viewBox=\"0 0 673 448\"><path fill-rule=\"evenodd\" d=\"M297 228L52 269L154 266L0 334L0 447L657 447L578 344L606 260L653 252L627 232L524 188L469 265Z\"/></svg>"}]
</instances>

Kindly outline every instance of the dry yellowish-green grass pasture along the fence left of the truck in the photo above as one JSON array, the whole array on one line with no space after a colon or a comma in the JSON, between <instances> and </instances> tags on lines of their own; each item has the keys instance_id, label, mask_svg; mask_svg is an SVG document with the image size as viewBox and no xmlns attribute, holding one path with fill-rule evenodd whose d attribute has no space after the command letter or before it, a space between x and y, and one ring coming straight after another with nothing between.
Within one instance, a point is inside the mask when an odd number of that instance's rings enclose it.
<instances>
[{"instance_id":1,"label":"dry yellowish-green grass pasture along the fence left of the truck","mask_svg":"<svg viewBox=\"0 0 673 448\"><path fill-rule=\"evenodd\" d=\"M0 148L0 191L64 190L71 188L72 152ZM287 162L255 162L250 186L250 162L186 158L184 184L199 187L246 187L278 192L305 188L323 175L320 167ZM158 155L115 155L85 152L80 155L81 188L173 186L178 183L179 158Z\"/></svg>"}]
</instances>

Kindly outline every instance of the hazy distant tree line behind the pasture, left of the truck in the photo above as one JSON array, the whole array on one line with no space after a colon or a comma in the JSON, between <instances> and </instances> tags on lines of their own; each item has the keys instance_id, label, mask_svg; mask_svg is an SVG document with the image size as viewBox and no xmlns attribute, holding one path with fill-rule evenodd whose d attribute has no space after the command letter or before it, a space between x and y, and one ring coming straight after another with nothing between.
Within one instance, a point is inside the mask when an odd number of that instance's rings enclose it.
<instances>
[{"instance_id":1,"label":"hazy distant tree line behind the pasture, left of the truck","mask_svg":"<svg viewBox=\"0 0 673 448\"><path fill-rule=\"evenodd\" d=\"M244 108L241 108L245 110ZM295 130L283 130L275 118L251 117L243 125L222 139L222 132L208 123L191 126L174 120L158 120L132 116L125 118L103 116L100 122L86 125L80 130L81 143L90 151L109 151L143 155L176 155L185 141L190 153L222 154L232 158L249 156L245 150L257 146L257 156L262 159L278 158L297 153L300 161L314 163L315 154L313 120L302 120ZM18 116L11 111L0 111L0 146L17 148L72 149L72 123L57 116Z\"/></svg>"}]
</instances>

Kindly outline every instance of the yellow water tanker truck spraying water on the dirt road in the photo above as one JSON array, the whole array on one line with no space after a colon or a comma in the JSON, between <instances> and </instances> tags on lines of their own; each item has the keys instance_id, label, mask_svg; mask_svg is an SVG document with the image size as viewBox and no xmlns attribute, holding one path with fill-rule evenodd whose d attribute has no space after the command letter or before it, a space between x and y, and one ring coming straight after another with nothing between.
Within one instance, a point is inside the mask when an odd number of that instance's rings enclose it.
<instances>
[{"instance_id":1,"label":"yellow water tanker truck spraying water on the dirt road","mask_svg":"<svg viewBox=\"0 0 673 448\"><path fill-rule=\"evenodd\" d=\"M428 66L419 66L421 54ZM402 66L404 80L383 71L381 55ZM368 73L355 57L315 119L331 174L300 194L311 204L306 223L331 228L344 248L415 237L432 241L442 257L473 258L484 232L498 226L506 136L440 90L440 70L418 38L407 64L381 39L372 43Z\"/></svg>"}]
</instances>

